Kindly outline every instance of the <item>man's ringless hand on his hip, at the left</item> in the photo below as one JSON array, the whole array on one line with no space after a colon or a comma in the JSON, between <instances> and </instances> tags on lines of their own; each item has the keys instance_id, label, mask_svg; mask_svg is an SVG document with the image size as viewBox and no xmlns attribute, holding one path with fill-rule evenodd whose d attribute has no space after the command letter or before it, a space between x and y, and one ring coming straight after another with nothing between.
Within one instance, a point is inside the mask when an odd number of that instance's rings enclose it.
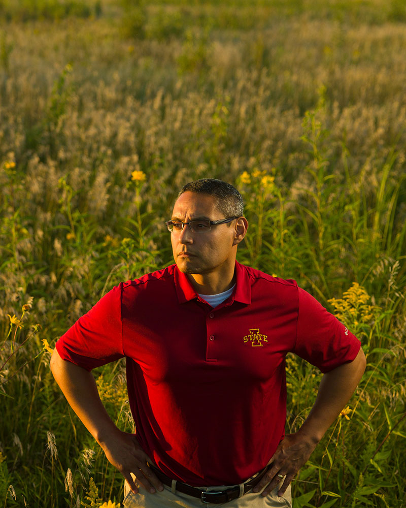
<instances>
[{"instance_id":1,"label":"man's ringless hand on his hip, at the left","mask_svg":"<svg viewBox=\"0 0 406 508\"><path fill-rule=\"evenodd\" d=\"M127 480L128 485L134 494L137 494L138 488L131 473L153 494L156 490L162 491L162 483L158 480L155 473L148 467L148 457L140 446L135 434L128 434L117 429L114 436L99 443L103 448L107 459L116 467Z\"/></svg>"}]
</instances>

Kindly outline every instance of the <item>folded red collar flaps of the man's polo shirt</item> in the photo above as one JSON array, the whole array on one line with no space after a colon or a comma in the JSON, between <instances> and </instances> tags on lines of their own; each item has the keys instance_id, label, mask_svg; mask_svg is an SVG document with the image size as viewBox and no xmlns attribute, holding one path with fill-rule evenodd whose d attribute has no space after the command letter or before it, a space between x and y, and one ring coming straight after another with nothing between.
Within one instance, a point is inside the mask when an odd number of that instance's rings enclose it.
<instances>
[{"instance_id":1,"label":"folded red collar flaps of the man's polo shirt","mask_svg":"<svg viewBox=\"0 0 406 508\"><path fill-rule=\"evenodd\" d=\"M188 276L174 266L175 289L179 303L189 302L198 298ZM250 304L251 303L251 281L248 271L244 265L235 262L235 289L231 295L231 301Z\"/></svg>"}]
</instances>

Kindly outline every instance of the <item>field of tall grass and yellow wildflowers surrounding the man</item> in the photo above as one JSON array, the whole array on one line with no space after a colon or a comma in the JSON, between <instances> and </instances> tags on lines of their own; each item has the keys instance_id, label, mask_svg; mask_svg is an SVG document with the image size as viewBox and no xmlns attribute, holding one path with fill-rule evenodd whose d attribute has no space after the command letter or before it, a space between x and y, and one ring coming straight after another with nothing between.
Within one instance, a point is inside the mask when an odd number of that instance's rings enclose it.
<instances>
[{"instance_id":1,"label":"field of tall grass and yellow wildflowers surrounding the man","mask_svg":"<svg viewBox=\"0 0 406 508\"><path fill-rule=\"evenodd\" d=\"M406 505L405 55L401 0L0 0L0 506L121 502L50 352L172 263L164 221L199 177L242 190L239 261L296 279L367 356L294 508ZM94 374L131 431L124 365ZM288 431L319 378L288 358Z\"/></svg>"}]
</instances>

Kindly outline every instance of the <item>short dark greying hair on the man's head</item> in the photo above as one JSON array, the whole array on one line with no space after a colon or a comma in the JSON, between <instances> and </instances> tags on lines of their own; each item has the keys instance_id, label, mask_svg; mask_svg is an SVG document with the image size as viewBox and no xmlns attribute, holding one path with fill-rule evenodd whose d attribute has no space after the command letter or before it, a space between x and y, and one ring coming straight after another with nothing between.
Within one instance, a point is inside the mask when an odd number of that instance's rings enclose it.
<instances>
[{"instance_id":1,"label":"short dark greying hair on the man's head","mask_svg":"<svg viewBox=\"0 0 406 508\"><path fill-rule=\"evenodd\" d=\"M186 191L196 194L208 194L216 198L216 205L225 217L241 217L244 215L243 197L230 183L217 178L200 178L186 183L179 191L178 198Z\"/></svg>"}]
</instances>

